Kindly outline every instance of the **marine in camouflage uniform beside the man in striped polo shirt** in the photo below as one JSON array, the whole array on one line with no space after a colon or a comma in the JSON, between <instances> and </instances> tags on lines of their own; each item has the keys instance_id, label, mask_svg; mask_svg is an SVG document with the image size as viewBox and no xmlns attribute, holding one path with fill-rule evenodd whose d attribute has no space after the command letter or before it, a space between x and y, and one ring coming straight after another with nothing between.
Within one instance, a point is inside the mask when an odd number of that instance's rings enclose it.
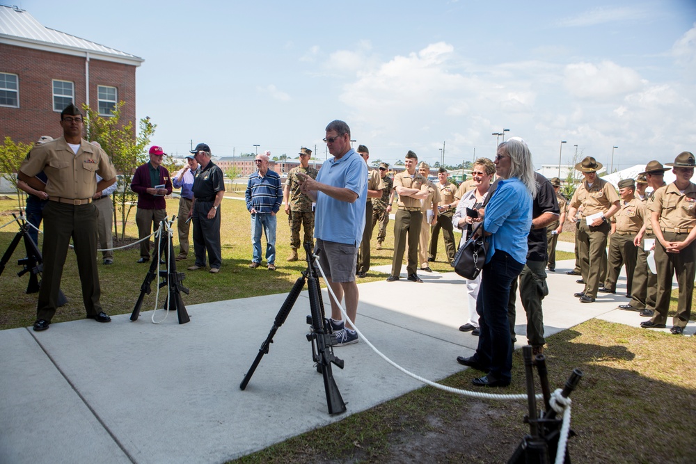
<instances>
[{"instance_id":1,"label":"marine in camouflage uniform beside the man in striped polo shirt","mask_svg":"<svg viewBox=\"0 0 696 464\"><path fill-rule=\"evenodd\" d=\"M312 150L309 148L300 148L299 159L300 165L292 168L290 173L287 173L285 186L283 187L283 202L285 203L285 214L287 214L287 222L290 224L290 257L288 261L297 261L297 250L300 248L300 227L304 227L303 246L308 243L314 248L314 211L312 209L312 199L301 192L300 179L297 173L303 173L311 177L317 178L317 171L309 165L309 160L312 157Z\"/></svg>"}]
</instances>

